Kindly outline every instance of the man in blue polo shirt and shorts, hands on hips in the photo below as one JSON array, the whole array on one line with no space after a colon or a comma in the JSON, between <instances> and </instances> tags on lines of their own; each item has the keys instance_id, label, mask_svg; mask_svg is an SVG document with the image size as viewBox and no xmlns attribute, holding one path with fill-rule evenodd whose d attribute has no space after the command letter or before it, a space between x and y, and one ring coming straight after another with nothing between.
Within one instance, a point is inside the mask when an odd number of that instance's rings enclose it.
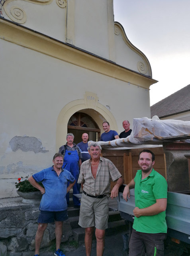
<instances>
[{"instance_id":1,"label":"man in blue polo shirt and shorts, hands on hips","mask_svg":"<svg viewBox=\"0 0 190 256\"><path fill-rule=\"evenodd\" d=\"M65 256L60 249L63 221L68 219L67 192L74 186L75 179L71 172L62 168L63 155L56 153L53 166L44 169L28 178L32 186L43 194L39 210L38 228L35 236L35 256L39 256L39 248L48 223L55 222L56 249L55 256ZM70 182L67 187L67 182ZM42 182L44 188L38 184Z\"/></svg>"}]
</instances>

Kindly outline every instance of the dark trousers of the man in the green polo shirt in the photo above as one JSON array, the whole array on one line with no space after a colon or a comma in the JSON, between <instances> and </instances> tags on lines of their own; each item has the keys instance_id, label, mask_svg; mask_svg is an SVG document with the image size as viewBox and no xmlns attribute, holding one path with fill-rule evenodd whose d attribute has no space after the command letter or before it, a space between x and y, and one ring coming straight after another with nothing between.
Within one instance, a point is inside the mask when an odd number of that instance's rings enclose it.
<instances>
[{"instance_id":1,"label":"dark trousers of the man in the green polo shirt","mask_svg":"<svg viewBox=\"0 0 190 256\"><path fill-rule=\"evenodd\" d=\"M129 256L164 256L166 233L148 234L132 230Z\"/></svg>"}]
</instances>

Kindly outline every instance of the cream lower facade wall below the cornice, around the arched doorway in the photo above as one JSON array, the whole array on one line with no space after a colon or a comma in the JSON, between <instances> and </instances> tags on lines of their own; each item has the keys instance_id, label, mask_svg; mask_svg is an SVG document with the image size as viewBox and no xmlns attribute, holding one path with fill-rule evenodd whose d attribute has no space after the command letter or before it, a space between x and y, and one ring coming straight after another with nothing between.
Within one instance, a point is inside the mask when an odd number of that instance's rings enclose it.
<instances>
[{"instance_id":1,"label":"cream lower facade wall below the cornice, around the arched doorway","mask_svg":"<svg viewBox=\"0 0 190 256\"><path fill-rule=\"evenodd\" d=\"M53 154L65 144L70 116L86 106L89 108L85 103L86 92L97 95L97 105L90 107L105 119L109 118L111 128L118 132L123 130L121 123L124 119L131 122L136 117L150 116L149 90L146 88L2 39L0 44L4 49L1 51L1 72L6 85L2 87L0 100L0 108L4 109L0 117L4 120L0 123L0 186L6 187L2 197L16 196L14 183L18 177L31 175L51 164ZM9 58L6 53L10 54ZM74 102L76 97L78 100ZM59 115L68 104L72 106L62 120ZM65 130L57 132L57 120ZM101 118L98 123L102 123ZM13 152L9 142L14 136L38 138L49 152L35 154L20 149ZM7 176L9 179L4 180Z\"/></svg>"}]
</instances>

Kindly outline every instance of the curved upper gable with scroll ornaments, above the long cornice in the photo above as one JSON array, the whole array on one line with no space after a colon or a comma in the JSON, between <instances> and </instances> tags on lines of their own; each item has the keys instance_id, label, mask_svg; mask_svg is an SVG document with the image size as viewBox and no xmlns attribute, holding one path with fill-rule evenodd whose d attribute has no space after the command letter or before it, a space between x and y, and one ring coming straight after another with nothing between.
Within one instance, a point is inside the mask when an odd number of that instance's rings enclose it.
<instances>
[{"instance_id":1,"label":"curved upper gable with scroll ornaments, above the long cornice","mask_svg":"<svg viewBox=\"0 0 190 256\"><path fill-rule=\"evenodd\" d=\"M152 76L145 55L129 42L121 24L114 25L113 0L6 0L2 17Z\"/></svg>"}]
</instances>

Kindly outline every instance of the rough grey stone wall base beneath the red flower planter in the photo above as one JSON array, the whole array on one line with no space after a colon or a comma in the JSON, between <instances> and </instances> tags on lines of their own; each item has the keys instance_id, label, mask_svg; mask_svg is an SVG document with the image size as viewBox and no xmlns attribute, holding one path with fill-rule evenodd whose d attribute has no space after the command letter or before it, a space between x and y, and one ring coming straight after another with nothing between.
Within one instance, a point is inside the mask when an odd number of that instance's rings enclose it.
<instances>
[{"instance_id":1,"label":"rough grey stone wall base beneath the red flower planter","mask_svg":"<svg viewBox=\"0 0 190 256\"><path fill-rule=\"evenodd\" d=\"M26 256L35 249L35 233L39 216L39 202L23 203L22 198L0 199L0 255ZM63 222L62 242L72 236L69 220ZM55 224L48 224L41 248L55 239ZM32 253L29 252L29 255Z\"/></svg>"}]
</instances>

